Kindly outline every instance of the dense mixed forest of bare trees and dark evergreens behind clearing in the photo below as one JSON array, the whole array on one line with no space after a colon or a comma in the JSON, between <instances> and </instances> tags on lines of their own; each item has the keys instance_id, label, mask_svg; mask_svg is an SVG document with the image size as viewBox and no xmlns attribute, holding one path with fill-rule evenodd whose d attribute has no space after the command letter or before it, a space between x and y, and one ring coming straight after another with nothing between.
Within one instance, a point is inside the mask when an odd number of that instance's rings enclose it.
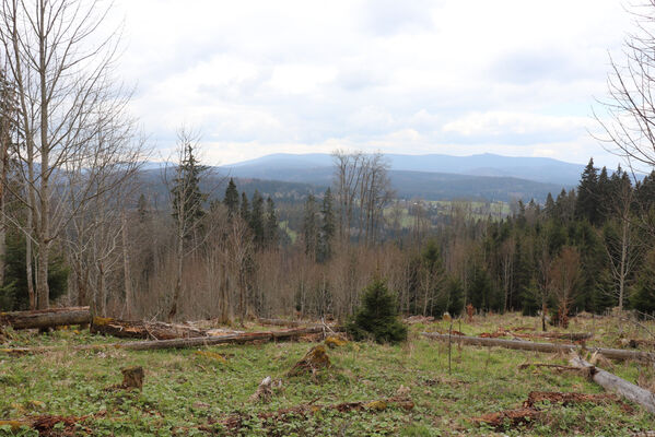
<instances>
[{"instance_id":1,"label":"dense mixed forest of bare trees and dark evergreens behind clearing","mask_svg":"<svg viewBox=\"0 0 655 437\"><path fill-rule=\"evenodd\" d=\"M184 132L178 145L179 162L160 176L163 188L143 191L153 184L132 181L120 209L95 204L100 211L66 226L50 253L52 302L122 317L342 318L372 279L384 277L408 315L459 314L470 304L478 311L546 309L565 323L583 310L655 310L655 175L633 184L620 167L590 161L575 190L543 204L515 201L507 214L466 201L400 203L382 154L337 151L332 187L289 198L280 194L284 185L248 193L247 180L238 187L213 175ZM8 228L0 303L26 309L34 307L28 245L19 226Z\"/></svg>"}]
</instances>

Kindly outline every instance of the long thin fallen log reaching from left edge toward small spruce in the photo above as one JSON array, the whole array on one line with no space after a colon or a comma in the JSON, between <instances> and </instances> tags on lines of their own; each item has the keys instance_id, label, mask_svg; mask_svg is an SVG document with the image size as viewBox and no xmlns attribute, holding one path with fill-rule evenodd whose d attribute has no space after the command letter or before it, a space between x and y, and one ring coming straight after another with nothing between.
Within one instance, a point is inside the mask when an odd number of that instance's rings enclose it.
<instances>
[{"instance_id":1,"label":"long thin fallen log reaching from left edge toward small spruce","mask_svg":"<svg viewBox=\"0 0 655 437\"><path fill-rule=\"evenodd\" d=\"M337 328L340 329L340 328ZM242 344L249 342L269 342L293 340L307 334L321 333L323 327L290 329L285 331L261 331L261 332L243 332L237 334L222 336L199 336L190 339L172 339L172 340L150 340L126 343L108 343L108 344L84 344L72 347L13 347L2 349L0 353L23 355L35 354L54 351L102 351L106 349L119 349L126 351L156 351L162 349L185 349L185 347L202 347L218 344Z\"/></svg>"}]
</instances>

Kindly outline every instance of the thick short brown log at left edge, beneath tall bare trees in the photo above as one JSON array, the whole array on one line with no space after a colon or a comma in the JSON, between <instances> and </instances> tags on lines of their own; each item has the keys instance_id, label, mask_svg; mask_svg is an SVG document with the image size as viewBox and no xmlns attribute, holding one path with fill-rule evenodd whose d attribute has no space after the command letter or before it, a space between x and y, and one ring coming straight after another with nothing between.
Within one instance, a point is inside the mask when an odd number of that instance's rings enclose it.
<instances>
[{"instance_id":1,"label":"thick short brown log at left edge, beneath tall bare trees","mask_svg":"<svg viewBox=\"0 0 655 437\"><path fill-rule=\"evenodd\" d=\"M34 311L0 312L0 326L13 329L45 329L91 322L89 307L50 308Z\"/></svg>"}]
</instances>

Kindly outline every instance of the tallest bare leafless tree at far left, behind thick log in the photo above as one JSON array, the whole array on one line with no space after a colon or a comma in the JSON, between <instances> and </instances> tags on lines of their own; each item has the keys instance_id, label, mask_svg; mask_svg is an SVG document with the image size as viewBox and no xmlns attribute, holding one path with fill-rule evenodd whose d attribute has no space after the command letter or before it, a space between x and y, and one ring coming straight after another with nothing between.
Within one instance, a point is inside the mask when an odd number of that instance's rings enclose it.
<instances>
[{"instance_id":1,"label":"tallest bare leafless tree at far left, behind thick log","mask_svg":"<svg viewBox=\"0 0 655 437\"><path fill-rule=\"evenodd\" d=\"M48 257L52 243L87 201L110 187L98 185L90 142L117 122L129 93L110 73L118 38L98 39L108 8L100 0L2 0L0 43L19 101L17 176L13 194L27 210L20 228L36 248L36 304L49 305ZM86 165L81 186L67 187L61 172ZM5 188L10 189L11 185ZM78 208L68 208L75 191ZM19 223L14 224L19 225ZM28 274L31 265L28 264Z\"/></svg>"}]
</instances>

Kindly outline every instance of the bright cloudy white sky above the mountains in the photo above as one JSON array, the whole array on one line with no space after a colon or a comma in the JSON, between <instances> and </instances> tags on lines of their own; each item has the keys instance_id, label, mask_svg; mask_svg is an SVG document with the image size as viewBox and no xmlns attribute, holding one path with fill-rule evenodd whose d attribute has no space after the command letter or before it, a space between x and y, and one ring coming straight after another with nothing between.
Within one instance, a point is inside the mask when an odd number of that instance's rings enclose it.
<instances>
[{"instance_id":1,"label":"bright cloudy white sky above the mountains","mask_svg":"<svg viewBox=\"0 0 655 437\"><path fill-rule=\"evenodd\" d=\"M588 131L621 0L118 0L119 74L157 149L229 164L336 147L615 165Z\"/></svg>"}]
</instances>

